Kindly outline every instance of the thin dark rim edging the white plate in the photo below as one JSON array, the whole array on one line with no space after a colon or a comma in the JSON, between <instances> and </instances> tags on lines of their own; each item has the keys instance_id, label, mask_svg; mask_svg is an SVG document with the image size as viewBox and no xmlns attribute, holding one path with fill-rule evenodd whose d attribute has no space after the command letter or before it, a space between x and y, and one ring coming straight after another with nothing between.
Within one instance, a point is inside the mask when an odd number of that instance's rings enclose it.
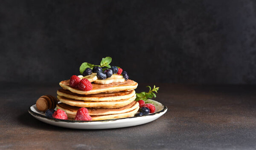
<instances>
[{"instance_id":1,"label":"thin dark rim edging the white plate","mask_svg":"<svg viewBox=\"0 0 256 150\"><path fill-rule=\"evenodd\" d=\"M151 100L150 101L154 101L154 100ZM155 102L158 102L158 101L155 101ZM160 103L160 102L158 102ZM92 120L92 121L76 121L76 120L64 120L64 119L57 119L57 118L50 118L46 115L41 115L39 113L36 113L34 112L33 110L31 110L31 107L34 106L35 104L31 105L29 108L28 108L28 112L31 114L31 115L34 115L36 117L40 117L40 118L45 118L47 120L50 120L50 121L56 121L56 122L67 122L67 123L89 123L89 122L110 122L110 121L116 121L116 120L123 120L123 119L130 119L130 118L137 118L137 117L146 117L146 116L153 116L153 115L158 115L160 113L163 113L167 110L167 107L160 103L162 106L163 106L163 110L160 110L156 113L151 113L151 114L148 114L148 115L142 115L142 116L133 116L133 117L126 117L126 118L116 118L116 119L105 119L105 120Z\"/></svg>"}]
</instances>

